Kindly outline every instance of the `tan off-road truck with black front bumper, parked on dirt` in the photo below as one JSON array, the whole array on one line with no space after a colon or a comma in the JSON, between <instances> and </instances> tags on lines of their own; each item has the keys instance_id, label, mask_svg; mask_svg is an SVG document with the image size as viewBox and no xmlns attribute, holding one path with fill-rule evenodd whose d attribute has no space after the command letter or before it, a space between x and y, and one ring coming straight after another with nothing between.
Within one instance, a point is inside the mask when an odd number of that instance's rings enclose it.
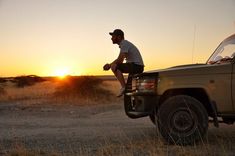
<instances>
[{"instance_id":1,"label":"tan off-road truck with black front bumper, parked on dirt","mask_svg":"<svg viewBox=\"0 0 235 156\"><path fill-rule=\"evenodd\" d=\"M235 34L204 64L180 65L129 75L124 94L128 117L148 116L169 143L203 139L208 123L235 121Z\"/></svg>"}]
</instances>

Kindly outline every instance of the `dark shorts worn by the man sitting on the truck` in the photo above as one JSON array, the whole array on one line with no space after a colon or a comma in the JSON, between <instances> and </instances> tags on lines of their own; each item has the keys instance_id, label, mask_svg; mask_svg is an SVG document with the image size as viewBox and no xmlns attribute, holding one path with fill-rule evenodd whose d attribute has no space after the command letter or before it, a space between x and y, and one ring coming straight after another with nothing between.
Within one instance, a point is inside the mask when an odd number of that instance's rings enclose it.
<instances>
[{"instance_id":1,"label":"dark shorts worn by the man sitting on the truck","mask_svg":"<svg viewBox=\"0 0 235 156\"><path fill-rule=\"evenodd\" d=\"M122 73L138 74L143 73L144 66L135 63L120 63L117 64L117 70L120 70Z\"/></svg>"}]
</instances>

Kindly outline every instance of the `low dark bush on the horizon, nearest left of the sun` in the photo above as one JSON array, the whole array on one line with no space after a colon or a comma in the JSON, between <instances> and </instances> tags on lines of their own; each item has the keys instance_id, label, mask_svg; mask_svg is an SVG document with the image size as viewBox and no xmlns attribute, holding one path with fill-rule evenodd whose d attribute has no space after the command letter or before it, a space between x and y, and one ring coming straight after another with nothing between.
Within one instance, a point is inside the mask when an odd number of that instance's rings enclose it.
<instances>
[{"instance_id":1,"label":"low dark bush on the horizon, nearest left of the sun","mask_svg":"<svg viewBox=\"0 0 235 156\"><path fill-rule=\"evenodd\" d=\"M25 86L32 86L35 83L45 81L43 78L36 75L28 75L28 76L18 76L13 78L12 82L16 84L16 87L22 88Z\"/></svg>"}]
</instances>

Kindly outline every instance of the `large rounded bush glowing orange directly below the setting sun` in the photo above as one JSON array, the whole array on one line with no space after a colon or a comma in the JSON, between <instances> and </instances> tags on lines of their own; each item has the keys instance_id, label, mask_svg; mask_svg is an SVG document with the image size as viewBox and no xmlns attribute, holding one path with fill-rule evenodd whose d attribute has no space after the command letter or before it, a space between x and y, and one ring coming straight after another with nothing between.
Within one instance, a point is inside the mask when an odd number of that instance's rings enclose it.
<instances>
[{"instance_id":1,"label":"large rounded bush glowing orange directly below the setting sun","mask_svg":"<svg viewBox=\"0 0 235 156\"><path fill-rule=\"evenodd\" d=\"M102 87L103 80L95 76L67 77L56 87L56 96L107 97L111 91Z\"/></svg>"}]
</instances>

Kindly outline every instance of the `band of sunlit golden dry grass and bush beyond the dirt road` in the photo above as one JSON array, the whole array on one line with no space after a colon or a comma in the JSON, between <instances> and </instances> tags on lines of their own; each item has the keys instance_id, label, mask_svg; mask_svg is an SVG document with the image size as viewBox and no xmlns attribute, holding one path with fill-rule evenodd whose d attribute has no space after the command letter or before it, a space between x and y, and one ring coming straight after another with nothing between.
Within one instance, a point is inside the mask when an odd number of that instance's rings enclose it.
<instances>
[{"instance_id":1,"label":"band of sunlit golden dry grass and bush beyond the dirt road","mask_svg":"<svg viewBox=\"0 0 235 156\"><path fill-rule=\"evenodd\" d=\"M17 101L26 105L109 103L120 101L114 95L117 86L116 81L104 81L94 76L51 79L21 88L8 82L0 87L0 102Z\"/></svg>"}]
</instances>

